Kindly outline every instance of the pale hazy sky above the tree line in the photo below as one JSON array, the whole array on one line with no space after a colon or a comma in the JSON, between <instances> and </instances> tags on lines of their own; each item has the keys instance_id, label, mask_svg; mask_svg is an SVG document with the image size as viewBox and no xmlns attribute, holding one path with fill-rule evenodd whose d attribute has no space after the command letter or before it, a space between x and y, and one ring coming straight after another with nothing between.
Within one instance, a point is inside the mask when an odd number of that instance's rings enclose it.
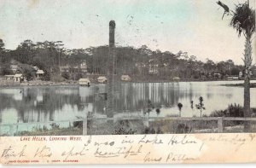
<instances>
[{"instance_id":1,"label":"pale hazy sky above the tree line","mask_svg":"<svg viewBox=\"0 0 256 168\"><path fill-rule=\"evenodd\" d=\"M121 46L187 51L201 61L241 64L244 38L221 20L217 0L0 0L0 38L6 49L26 39L58 41L68 49L108 44L108 22L116 22ZM245 0L223 0L234 3ZM251 6L255 4L250 0ZM253 7L254 9L254 7ZM255 40L254 40L255 41ZM255 43L253 43L255 45ZM255 62L255 52L253 53Z\"/></svg>"}]
</instances>

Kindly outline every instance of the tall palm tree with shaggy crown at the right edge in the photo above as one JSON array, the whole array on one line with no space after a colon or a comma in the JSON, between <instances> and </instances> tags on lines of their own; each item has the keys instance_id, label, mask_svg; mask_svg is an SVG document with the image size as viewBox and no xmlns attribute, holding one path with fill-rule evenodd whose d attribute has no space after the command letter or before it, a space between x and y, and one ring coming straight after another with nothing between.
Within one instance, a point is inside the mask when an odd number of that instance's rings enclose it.
<instances>
[{"instance_id":1,"label":"tall palm tree with shaggy crown at the right edge","mask_svg":"<svg viewBox=\"0 0 256 168\"><path fill-rule=\"evenodd\" d=\"M224 8L224 14L232 15L230 20L230 26L236 29L238 37L241 34L246 38L244 49L244 64L245 64L245 78L244 78L244 107L243 113L245 117L251 117L250 110L250 72L252 68L252 38L253 32L255 32L255 10L249 7L249 1L247 3L240 3L236 5L235 11L231 11L227 5L218 1L218 4ZM250 130L250 125L245 122L244 131Z\"/></svg>"}]
</instances>

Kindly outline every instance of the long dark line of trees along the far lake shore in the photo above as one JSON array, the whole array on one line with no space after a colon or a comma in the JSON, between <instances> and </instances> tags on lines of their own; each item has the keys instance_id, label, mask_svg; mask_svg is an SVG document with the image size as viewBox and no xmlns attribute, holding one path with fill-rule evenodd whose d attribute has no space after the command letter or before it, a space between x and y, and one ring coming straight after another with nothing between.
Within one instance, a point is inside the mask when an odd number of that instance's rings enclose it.
<instances>
[{"instance_id":1,"label":"long dark line of trees along the far lake shore","mask_svg":"<svg viewBox=\"0 0 256 168\"><path fill-rule=\"evenodd\" d=\"M107 74L108 45L90 47L87 49L65 49L61 41L37 42L25 40L16 49L4 49L0 39L1 75L10 74L11 61L23 64L23 72L29 73L29 66L36 66L48 75L60 72L60 67L76 67L86 62L87 71L92 74ZM255 67L254 67L255 68ZM232 60L214 62L210 59L200 61L195 55L179 51L148 49L146 45L140 48L116 47L115 73L128 74L134 78L154 78L166 80L173 77L183 79L215 78L214 73L238 75L243 67L235 65Z\"/></svg>"}]
</instances>

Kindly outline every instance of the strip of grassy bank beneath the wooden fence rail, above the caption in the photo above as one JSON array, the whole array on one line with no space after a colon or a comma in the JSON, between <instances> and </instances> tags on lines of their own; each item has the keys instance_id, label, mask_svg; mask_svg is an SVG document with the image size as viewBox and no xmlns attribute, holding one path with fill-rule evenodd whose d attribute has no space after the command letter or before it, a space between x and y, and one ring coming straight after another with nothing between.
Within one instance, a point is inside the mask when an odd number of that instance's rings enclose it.
<instances>
[{"instance_id":1,"label":"strip of grassy bank beneath the wooden fence rail, above the caption","mask_svg":"<svg viewBox=\"0 0 256 168\"><path fill-rule=\"evenodd\" d=\"M227 123L228 122L228 123ZM251 122L251 132L256 132L256 123ZM129 126L128 126L129 125ZM224 132L243 132L243 123L230 123L224 121ZM183 134L183 133L218 133L217 120L167 120L160 119L149 122L125 121L120 123L102 123L88 125L88 135L136 135L136 134ZM61 128L53 130L21 131L15 136L82 136L82 128ZM7 136L7 135L1 135Z\"/></svg>"}]
</instances>

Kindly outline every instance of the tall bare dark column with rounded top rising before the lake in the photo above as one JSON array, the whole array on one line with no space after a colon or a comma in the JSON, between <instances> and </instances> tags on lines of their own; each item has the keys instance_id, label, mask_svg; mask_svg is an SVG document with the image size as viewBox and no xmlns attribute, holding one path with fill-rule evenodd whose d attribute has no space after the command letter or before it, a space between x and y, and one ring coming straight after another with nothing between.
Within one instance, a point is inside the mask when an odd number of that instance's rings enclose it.
<instances>
[{"instance_id":1,"label":"tall bare dark column with rounded top rising before the lake","mask_svg":"<svg viewBox=\"0 0 256 168\"><path fill-rule=\"evenodd\" d=\"M115 22L109 22L109 49L108 49L108 101L107 101L107 117L113 118L113 73L114 73L114 29Z\"/></svg>"}]
</instances>

